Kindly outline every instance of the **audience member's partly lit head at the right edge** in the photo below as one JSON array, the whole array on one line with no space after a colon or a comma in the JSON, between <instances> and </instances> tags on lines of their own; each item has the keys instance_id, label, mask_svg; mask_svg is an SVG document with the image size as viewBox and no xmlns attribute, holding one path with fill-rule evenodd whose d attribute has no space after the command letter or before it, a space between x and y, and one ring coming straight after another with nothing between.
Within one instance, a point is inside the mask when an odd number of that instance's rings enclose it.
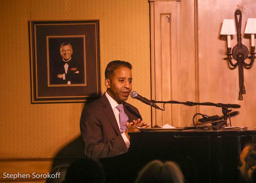
<instances>
[{"instance_id":1,"label":"audience member's partly lit head at the right edge","mask_svg":"<svg viewBox=\"0 0 256 183\"><path fill-rule=\"evenodd\" d=\"M241 182L255 183L256 179L256 141L249 142L244 146L240 155L239 166Z\"/></svg>"}]
</instances>

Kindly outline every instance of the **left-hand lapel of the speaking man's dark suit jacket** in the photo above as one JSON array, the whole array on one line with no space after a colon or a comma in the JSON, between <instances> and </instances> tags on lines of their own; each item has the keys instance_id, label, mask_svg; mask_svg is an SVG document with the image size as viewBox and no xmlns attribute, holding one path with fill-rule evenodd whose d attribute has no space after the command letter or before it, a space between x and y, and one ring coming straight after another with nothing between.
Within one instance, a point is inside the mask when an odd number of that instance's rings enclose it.
<instances>
[{"instance_id":1,"label":"left-hand lapel of the speaking man's dark suit jacket","mask_svg":"<svg viewBox=\"0 0 256 183\"><path fill-rule=\"evenodd\" d=\"M103 111L104 111L105 115L107 116L108 121L113 126L114 130L116 131L116 134L121 134L121 132L118 128L118 125L117 125L117 121L116 121L116 117L114 115L113 109L112 109L105 93L101 97L101 100L102 100L102 106L104 107Z\"/></svg>"}]
</instances>

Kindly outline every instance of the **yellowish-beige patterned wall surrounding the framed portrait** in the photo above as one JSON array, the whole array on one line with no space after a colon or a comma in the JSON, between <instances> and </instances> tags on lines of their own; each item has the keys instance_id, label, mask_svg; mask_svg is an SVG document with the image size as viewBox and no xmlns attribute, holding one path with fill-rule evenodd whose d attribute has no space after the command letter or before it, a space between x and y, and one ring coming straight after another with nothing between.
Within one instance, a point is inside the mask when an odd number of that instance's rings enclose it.
<instances>
[{"instance_id":1,"label":"yellowish-beige patterned wall surrounding the framed portrait","mask_svg":"<svg viewBox=\"0 0 256 183\"><path fill-rule=\"evenodd\" d=\"M148 0L1 0L0 157L54 157L80 134L84 103L30 104L28 20L100 20L100 71L133 64L133 88L150 98ZM143 119L151 109L129 99Z\"/></svg>"}]
</instances>

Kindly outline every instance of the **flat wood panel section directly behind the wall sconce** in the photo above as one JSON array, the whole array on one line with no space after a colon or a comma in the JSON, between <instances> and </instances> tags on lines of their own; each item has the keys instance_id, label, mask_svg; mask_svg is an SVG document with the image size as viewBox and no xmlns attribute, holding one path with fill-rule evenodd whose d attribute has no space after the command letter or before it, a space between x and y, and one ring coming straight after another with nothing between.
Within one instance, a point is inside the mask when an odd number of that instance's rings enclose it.
<instances>
[{"instance_id":1,"label":"flat wood panel section directly behind the wall sconce","mask_svg":"<svg viewBox=\"0 0 256 183\"><path fill-rule=\"evenodd\" d=\"M244 29L248 17L256 18L255 0L198 0L198 63L200 102L234 103L241 105L239 115L232 118L233 126L256 126L256 68L244 69L244 84L246 94L244 100L238 100L239 78L238 68L230 70L224 60L227 52L227 41L220 39L223 19L234 19L236 9L242 11L242 44L250 50L250 39L244 37ZM231 46L237 44L236 35L231 40ZM255 63L254 63L255 64ZM200 107L201 113L221 115L217 107Z\"/></svg>"}]
</instances>

